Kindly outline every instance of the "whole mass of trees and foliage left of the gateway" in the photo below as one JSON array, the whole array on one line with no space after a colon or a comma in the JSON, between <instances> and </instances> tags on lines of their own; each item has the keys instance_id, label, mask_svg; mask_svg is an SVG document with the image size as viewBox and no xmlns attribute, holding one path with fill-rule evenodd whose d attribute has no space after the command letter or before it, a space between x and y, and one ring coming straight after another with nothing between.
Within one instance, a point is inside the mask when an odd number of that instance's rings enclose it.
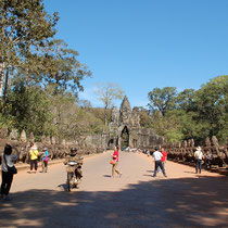
<instances>
[{"instance_id":1,"label":"whole mass of trees and foliage left of the gateway","mask_svg":"<svg viewBox=\"0 0 228 228\"><path fill-rule=\"evenodd\" d=\"M58 20L43 0L0 0L0 79L5 78L0 127L33 131L36 138L104 130L99 118L75 104L80 81L91 72L77 51L53 39Z\"/></svg>"}]
</instances>

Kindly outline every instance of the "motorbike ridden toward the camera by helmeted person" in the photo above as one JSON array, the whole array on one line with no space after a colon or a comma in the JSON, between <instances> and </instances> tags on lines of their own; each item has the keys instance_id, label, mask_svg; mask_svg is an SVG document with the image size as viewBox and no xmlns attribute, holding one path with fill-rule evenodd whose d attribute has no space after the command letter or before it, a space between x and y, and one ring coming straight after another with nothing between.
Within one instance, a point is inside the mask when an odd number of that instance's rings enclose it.
<instances>
[{"instance_id":1,"label":"motorbike ridden toward the camera by helmeted person","mask_svg":"<svg viewBox=\"0 0 228 228\"><path fill-rule=\"evenodd\" d=\"M78 185L80 182L80 179L83 177L81 175L81 163L69 161L67 163L66 173L67 173L67 179L66 179L66 186L67 191L71 191L73 188L78 188Z\"/></svg>"}]
</instances>

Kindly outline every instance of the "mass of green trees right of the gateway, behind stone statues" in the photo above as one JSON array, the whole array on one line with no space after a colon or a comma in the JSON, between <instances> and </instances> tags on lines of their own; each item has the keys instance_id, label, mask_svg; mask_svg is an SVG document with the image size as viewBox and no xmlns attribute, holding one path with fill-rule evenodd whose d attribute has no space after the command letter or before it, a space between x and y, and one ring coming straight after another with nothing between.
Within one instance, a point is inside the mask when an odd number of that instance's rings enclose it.
<instances>
[{"instance_id":1,"label":"mass of green trees right of the gateway, behind stone statues","mask_svg":"<svg viewBox=\"0 0 228 228\"><path fill-rule=\"evenodd\" d=\"M191 138L202 142L212 136L221 142L227 140L228 76L215 77L197 91L186 89L178 94L172 92L169 99L168 91L167 88L155 88L149 93L153 119L151 127L160 136L172 142Z\"/></svg>"}]
</instances>

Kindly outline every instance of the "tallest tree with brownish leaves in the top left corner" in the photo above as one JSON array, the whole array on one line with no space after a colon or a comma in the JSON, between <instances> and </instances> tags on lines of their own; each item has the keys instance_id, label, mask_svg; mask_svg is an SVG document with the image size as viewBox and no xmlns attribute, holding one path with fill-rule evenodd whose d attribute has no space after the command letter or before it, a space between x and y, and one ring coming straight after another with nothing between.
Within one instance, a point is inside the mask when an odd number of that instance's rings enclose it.
<instances>
[{"instance_id":1,"label":"tallest tree with brownish leaves in the top left corner","mask_svg":"<svg viewBox=\"0 0 228 228\"><path fill-rule=\"evenodd\" d=\"M0 88L5 69L22 67L33 51L54 36L58 14L45 11L43 0L0 0ZM33 61L30 62L33 63ZM30 67L34 64L27 64ZM26 67L27 68L27 67ZM27 83L28 78L26 78Z\"/></svg>"}]
</instances>

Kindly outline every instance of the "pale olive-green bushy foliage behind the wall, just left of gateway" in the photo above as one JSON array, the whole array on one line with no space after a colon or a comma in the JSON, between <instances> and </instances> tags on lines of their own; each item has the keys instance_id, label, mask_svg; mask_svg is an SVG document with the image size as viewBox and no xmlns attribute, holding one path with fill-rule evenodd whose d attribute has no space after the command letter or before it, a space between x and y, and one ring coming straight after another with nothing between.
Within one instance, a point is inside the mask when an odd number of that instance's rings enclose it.
<instances>
[{"instance_id":1,"label":"pale olive-green bushy foliage behind the wall, just left of gateway","mask_svg":"<svg viewBox=\"0 0 228 228\"><path fill-rule=\"evenodd\" d=\"M77 140L106 130L101 119L79 107L74 100L72 93L52 97L51 109L55 115L53 124L58 130L55 136Z\"/></svg>"}]
</instances>

